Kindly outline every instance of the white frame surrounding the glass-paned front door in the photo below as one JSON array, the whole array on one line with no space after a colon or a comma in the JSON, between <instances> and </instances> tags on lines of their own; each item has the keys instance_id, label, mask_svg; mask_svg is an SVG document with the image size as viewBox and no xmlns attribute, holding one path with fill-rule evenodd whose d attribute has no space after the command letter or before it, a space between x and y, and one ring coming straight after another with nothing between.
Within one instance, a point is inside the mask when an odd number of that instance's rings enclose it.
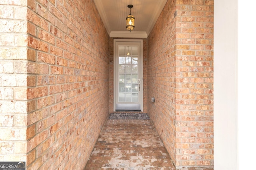
<instances>
[{"instance_id":1,"label":"white frame surrounding the glass-paned front door","mask_svg":"<svg viewBox=\"0 0 256 170\"><path fill-rule=\"evenodd\" d=\"M134 43L140 43L140 73L141 73L141 98L140 98L140 109L143 111L143 39L114 39L114 111L116 111L116 76L117 76L117 69L116 69L116 42L134 42ZM139 57L139 56L138 56Z\"/></svg>"}]
</instances>

